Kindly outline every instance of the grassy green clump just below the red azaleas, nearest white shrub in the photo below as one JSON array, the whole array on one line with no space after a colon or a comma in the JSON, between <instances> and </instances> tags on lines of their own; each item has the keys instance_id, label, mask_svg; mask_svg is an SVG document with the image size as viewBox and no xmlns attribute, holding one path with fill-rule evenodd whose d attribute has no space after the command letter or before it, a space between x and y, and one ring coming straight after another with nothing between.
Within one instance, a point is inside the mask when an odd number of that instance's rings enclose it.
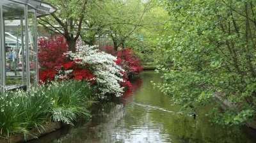
<instances>
[{"instance_id":1,"label":"grassy green clump just below the red azaleas, nearest white shrub","mask_svg":"<svg viewBox=\"0 0 256 143\"><path fill-rule=\"evenodd\" d=\"M49 85L51 91L46 89L52 99L51 118L53 121L62 121L72 124L77 117L90 117L90 112L86 109L89 103L92 88L88 82L65 81L58 84Z\"/></svg>"}]
</instances>

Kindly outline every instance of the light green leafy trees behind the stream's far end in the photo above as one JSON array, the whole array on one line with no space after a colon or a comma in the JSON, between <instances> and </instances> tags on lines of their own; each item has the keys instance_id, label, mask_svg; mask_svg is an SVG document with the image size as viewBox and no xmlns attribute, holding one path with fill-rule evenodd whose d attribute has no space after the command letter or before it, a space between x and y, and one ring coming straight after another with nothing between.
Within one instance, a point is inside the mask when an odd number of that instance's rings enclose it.
<instances>
[{"instance_id":1,"label":"light green leafy trees behind the stream's far end","mask_svg":"<svg viewBox=\"0 0 256 143\"><path fill-rule=\"evenodd\" d=\"M164 28L168 13L157 1L97 1L92 10L91 6L87 10L88 22L95 22L95 31L100 29L97 36L106 34L107 45L113 45L115 50L136 50L143 64L150 67L154 60L163 63L163 51L156 47L157 38L169 32Z\"/></svg>"}]
</instances>

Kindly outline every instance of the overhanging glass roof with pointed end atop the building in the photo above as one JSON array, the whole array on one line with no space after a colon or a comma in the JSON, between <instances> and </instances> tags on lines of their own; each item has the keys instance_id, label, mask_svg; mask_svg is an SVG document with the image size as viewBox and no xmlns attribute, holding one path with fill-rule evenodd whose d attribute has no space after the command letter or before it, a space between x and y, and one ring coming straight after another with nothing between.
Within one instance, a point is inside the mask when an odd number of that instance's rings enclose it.
<instances>
[{"instance_id":1,"label":"overhanging glass roof with pointed end atop the building","mask_svg":"<svg viewBox=\"0 0 256 143\"><path fill-rule=\"evenodd\" d=\"M37 0L0 0L3 5L3 17L19 17L24 14L24 4L28 4L28 12L36 10L36 17L49 15L56 11L56 8L49 3ZM13 10L15 9L15 10Z\"/></svg>"}]
</instances>

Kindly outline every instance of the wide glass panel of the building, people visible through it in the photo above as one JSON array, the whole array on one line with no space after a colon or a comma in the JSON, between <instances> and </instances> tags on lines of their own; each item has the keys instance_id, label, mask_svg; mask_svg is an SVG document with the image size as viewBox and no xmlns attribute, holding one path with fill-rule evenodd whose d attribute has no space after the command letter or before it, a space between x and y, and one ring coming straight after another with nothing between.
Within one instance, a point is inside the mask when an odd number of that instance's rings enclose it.
<instances>
[{"instance_id":1,"label":"wide glass panel of the building, people visible through it","mask_svg":"<svg viewBox=\"0 0 256 143\"><path fill-rule=\"evenodd\" d=\"M6 86L24 85L24 69L20 52L24 47L25 5L3 1Z\"/></svg>"}]
</instances>

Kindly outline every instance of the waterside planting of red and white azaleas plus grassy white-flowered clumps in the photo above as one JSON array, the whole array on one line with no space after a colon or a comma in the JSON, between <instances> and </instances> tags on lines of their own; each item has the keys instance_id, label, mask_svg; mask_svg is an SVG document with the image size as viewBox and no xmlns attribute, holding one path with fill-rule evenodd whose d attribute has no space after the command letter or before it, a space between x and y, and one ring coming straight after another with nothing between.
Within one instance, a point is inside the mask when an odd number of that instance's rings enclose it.
<instances>
[{"instance_id":1,"label":"waterside planting of red and white azaleas plus grassy white-flowered clumps","mask_svg":"<svg viewBox=\"0 0 256 143\"><path fill-rule=\"evenodd\" d=\"M125 87L131 89L129 75L142 71L131 49L115 57L95 46L77 44L73 53L67 51L62 36L40 39L38 49L41 86L0 96L0 142L35 139L73 124L78 117L88 118L88 104L121 96Z\"/></svg>"}]
</instances>

